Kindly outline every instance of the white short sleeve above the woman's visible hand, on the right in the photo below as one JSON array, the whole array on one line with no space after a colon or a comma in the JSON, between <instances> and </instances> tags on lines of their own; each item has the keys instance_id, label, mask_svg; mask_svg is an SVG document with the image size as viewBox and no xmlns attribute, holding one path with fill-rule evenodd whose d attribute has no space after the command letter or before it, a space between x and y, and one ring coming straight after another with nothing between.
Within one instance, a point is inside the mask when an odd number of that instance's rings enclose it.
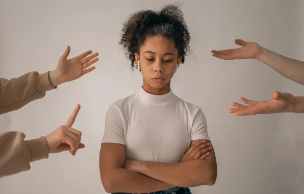
<instances>
[{"instance_id":1,"label":"white short sleeve above the woman's visible hand, on the right","mask_svg":"<svg viewBox=\"0 0 304 194\"><path fill-rule=\"evenodd\" d=\"M197 139L210 140L207 131L207 120L200 108L194 115L190 138L191 141Z\"/></svg>"}]
</instances>

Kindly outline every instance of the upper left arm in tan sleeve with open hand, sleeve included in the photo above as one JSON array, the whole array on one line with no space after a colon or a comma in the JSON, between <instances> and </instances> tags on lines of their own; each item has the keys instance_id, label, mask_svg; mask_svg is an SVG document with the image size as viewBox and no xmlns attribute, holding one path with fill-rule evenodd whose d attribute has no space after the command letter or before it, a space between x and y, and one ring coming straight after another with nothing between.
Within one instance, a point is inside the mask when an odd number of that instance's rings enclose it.
<instances>
[{"instance_id":1,"label":"upper left arm in tan sleeve with open hand, sleeve included","mask_svg":"<svg viewBox=\"0 0 304 194\"><path fill-rule=\"evenodd\" d=\"M55 70L39 75L37 71L28 72L10 80L0 78L0 114L22 108L30 102L41 99L49 90L65 82L78 79L95 69L89 67L98 61L98 53L87 51L77 57L68 59L68 46L58 61ZM90 56L88 56L90 55Z\"/></svg>"}]
</instances>

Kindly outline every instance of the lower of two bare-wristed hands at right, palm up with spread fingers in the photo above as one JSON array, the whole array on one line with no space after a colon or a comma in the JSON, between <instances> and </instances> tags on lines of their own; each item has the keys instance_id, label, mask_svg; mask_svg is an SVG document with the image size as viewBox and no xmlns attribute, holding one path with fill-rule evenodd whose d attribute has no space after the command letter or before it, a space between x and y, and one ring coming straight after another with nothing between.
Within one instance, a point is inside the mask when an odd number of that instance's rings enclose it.
<instances>
[{"instance_id":1,"label":"lower of two bare-wristed hands at right, palm up with spread fingers","mask_svg":"<svg viewBox=\"0 0 304 194\"><path fill-rule=\"evenodd\" d=\"M291 112L294 108L296 100L295 97L290 93L280 93L278 91L272 92L272 99L269 101L251 101L243 97L240 100L246 105L239 103L232 103L232 108L229 110L230 113L235 115L255 115L255 114L272 114L279 112Z\"/></svg>"}]
</instances>

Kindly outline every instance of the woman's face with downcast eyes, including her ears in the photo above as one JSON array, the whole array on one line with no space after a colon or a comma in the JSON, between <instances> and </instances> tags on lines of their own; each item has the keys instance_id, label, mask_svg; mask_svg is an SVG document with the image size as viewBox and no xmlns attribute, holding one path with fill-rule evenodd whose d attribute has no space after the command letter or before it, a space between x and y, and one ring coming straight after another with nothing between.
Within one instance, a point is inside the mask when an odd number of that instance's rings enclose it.
<instances>
[{"instance_id":1,"label":"woman's face with downcast eyes, including her ears","mask_svg":"<svg viewBox=\"0 0 304 194\"><path fill-rule=\"evenodd\" d=\"M135 59L136 63L140 60L143 87L152 91L170 88L176 65L182 60L174 41L161 35L146 38Z\"/></svg>"}]
</instances>

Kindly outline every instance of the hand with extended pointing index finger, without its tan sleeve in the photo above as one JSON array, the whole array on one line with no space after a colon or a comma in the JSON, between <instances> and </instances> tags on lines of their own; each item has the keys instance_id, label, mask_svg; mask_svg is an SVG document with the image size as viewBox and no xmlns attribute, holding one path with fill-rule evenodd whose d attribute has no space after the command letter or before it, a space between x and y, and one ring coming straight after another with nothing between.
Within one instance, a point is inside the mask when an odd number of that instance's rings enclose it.
<instances>
[{"instance_id":1,"label":"hand with extended pointing index finger, without its tan sleeve","mask_svg":"<svg viewBox=\"0 0 304 194\"><path fill-rule=\"evenodd\" d=\"M71 128L79 110L80 105L77 105L63 126L60 126L52 133L45 136L49 153L70 151L74 156L78 149L85 148L85 145L81 143L82 133Z\"/></svg>"}]
</instances>

